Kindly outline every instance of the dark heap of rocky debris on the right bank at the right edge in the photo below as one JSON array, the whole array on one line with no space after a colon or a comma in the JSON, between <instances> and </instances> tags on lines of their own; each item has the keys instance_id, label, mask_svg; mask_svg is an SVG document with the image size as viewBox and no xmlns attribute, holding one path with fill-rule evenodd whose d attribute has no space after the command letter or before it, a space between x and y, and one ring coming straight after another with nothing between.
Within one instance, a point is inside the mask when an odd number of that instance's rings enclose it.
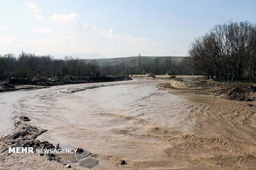
<instances>
[{"instance_id":1,"label":"dark heap of rocky debris on the right bank at the right edge","mask_svg":"<svg viewBox=\"0 0 256 170\"><path fill-rule=\"evenodd\" d=\"M256 86L233 86L214 91L214 95L228 100L254 101L256 99Z\"/></svg>"}]
</instances>

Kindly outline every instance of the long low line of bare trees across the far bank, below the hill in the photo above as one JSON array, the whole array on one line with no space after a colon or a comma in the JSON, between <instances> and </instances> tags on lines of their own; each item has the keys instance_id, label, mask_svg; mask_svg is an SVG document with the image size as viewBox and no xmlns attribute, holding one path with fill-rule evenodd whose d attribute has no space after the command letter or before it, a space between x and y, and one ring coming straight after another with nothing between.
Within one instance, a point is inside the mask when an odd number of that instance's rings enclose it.
<instances>
[{"instance_id":1,"label":"long low line of bare trees across the far bank, below the hill","mask_svg":"<svg viewBox=\"0 0 256 170\"><path fill-rule=\"evenodd\" d=\"M128 62L116 65L99 66L96 60L82 60L72 57L54 59L51 56L35 56L22 52L17 58L13 54L0 55L0 80L10 77L60 77L65 75L129 75L129 74L191 74L195 73L187 66L189 58L176 61L172 58L155 58L136 65Z\"/></svg>"}]
</instances>

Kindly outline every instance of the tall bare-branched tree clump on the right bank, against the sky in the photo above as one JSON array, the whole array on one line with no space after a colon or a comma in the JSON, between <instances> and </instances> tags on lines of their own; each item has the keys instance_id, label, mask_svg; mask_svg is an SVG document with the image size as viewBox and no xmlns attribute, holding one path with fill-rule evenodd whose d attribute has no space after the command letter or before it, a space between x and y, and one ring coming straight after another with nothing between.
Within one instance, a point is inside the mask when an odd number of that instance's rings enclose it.
<instances>
[{"instance_id":1,"label":"tall bare-branched tree clump on the right bank, against the sky","mask_svg":"<svg viewBox=\"0 0 256 170\"><path fill-rule=\"evenodd\" d=\"M195 69L217 81L256 81L256 26L229 22L191 43Z\"/></svg>"}]
</instances>

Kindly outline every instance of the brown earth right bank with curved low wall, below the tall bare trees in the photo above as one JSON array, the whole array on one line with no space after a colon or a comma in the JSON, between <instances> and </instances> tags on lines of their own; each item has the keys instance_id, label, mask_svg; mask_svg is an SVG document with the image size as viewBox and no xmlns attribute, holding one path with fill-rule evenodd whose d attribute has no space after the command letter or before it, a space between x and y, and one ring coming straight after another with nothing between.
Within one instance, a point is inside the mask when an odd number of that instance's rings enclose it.
<instances>
[{"instance_id":1,"label":"brown earth right bank with curved low wall, below the tall bare trees","mask_svg":"<svg viewBox=\"0 0 256 170\"><path fill-rule=\"evenodd\" d=\"M211 97L225 98L228 100L256 100L256 84L252 82L195 81L195 79L183 81L182 79L175 78L165 84L159 84L158 88L180 93L210 95Z\"/></svg>"}]
</instances>

